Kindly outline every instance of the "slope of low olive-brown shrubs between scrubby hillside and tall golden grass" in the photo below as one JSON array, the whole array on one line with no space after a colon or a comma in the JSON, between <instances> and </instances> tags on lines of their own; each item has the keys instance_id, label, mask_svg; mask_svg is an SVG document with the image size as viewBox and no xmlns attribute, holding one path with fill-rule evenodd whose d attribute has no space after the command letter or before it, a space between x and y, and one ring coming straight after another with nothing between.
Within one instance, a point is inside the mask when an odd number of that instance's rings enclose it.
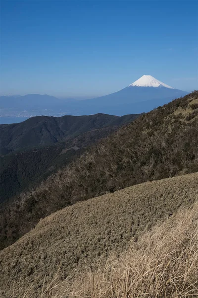
<instances>
[{"instance_id":1,"label":"slope of low olive-brown shrubs between scrubby hillside and tall golden grass","mask_svg":"<svg viewBox=\"0 0 198 298\"><path fill-rule=\"evenodd\" d=\"M28 297L39 297L45 275L50 281L58 268L60 279L84 266L94 270L111 252L116 256L125 250L132 236L137 241L145 228L197 199L198 173L194 173L135 185L62 209L0 252L1 297L31 284ZM20 291L15 297L21 297Z\"/></svg>"}]
</instances>

